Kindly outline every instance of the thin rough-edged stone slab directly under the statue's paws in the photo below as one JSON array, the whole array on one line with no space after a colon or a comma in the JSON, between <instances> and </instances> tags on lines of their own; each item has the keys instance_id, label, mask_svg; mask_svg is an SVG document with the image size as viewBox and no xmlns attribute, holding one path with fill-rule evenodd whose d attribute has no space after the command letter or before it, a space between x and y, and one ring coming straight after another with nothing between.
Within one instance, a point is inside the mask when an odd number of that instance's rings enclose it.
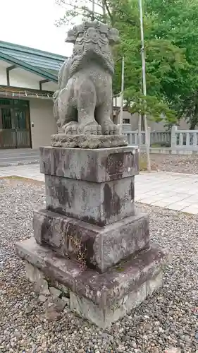
<instances>
[{"instance_id":1,"label":"thin rough-edged stone slab directly under the statue's paws","mask_svg":"<svg viewBox=\"0 0 198 353\"><path fill-rule=\"evenodd\" d=\"M124 135L63 135L51 136L51 147L62 148L109 148L127 146Z\"/></svg>"}]
</instances>

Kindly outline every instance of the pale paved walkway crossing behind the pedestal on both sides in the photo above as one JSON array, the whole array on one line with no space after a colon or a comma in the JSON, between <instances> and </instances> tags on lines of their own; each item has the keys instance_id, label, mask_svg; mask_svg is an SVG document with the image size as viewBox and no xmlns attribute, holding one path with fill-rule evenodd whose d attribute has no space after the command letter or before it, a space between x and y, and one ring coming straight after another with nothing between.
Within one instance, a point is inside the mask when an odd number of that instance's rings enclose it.
<instances>
[{"instance_id":1,"label":"pale paved walkway crossing behind the pedestal on both sides","mask_svg":"<svg viewBox=\"0 0 198 353\"><path fill-rule=\"evenodd\" d=\"M0 168L0 177L25 177L44 181L39 164ZM170 210L198 214L198 175L151 172L135 177L135 201Z\"/></svg>"}]
</instances>

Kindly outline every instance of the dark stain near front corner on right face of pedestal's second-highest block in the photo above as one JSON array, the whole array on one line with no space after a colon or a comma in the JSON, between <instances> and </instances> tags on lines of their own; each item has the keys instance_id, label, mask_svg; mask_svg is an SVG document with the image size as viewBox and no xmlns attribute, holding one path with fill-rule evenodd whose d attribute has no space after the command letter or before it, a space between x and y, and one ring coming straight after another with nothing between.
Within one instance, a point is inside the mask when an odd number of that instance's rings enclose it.
<instances>
[{"instance_id":1,"label":"dark stain near front corner on right face of pedestal's second-highest block","mask_svg":"<svg viewBox=\"0 0 198 353\"><path fill-rule=\"evenodd\" d=\"M106 218L110 218L111 215L115 216L120 213L120 198L116 191L112 193L109 184L104 185L104 213Z\"/></svg>"}]
</instances>

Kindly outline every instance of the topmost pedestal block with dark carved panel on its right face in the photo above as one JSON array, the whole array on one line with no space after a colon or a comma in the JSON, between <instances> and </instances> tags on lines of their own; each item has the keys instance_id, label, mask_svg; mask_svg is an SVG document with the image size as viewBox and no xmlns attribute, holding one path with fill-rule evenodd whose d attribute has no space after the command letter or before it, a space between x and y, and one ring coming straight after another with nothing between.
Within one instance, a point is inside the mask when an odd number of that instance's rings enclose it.
<instances>
[{"instance_id":1,"label":"topmost pedestal block with dark carved panel on its right face","mask_svg":"<svg viewBox=\"0 0 198 353\"><path fill-rule=\"evenodd\" d=\"M44 174L105 181L132 177L139 173L137 147L101 148L40 148L40 169Z\"/></svg>"}]
</instances>

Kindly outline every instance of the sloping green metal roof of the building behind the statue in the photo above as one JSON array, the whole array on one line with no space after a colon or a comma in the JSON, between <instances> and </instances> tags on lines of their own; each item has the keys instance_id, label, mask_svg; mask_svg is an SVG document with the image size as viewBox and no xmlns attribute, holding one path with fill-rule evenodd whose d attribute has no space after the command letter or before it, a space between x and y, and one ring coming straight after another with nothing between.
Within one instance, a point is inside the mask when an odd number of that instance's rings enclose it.
<instances>
[{"instance_id":1,"label":"sloping green metal roof of the building behind the statue","mask_svg":"<svg viewBox=\"0 0 198 353\"><path fill-rule=\"evenodd\" d=\"M0 41L0 59L57 82L58 70L67 58L63 55Z\"/></svg>"}]
</instances>

